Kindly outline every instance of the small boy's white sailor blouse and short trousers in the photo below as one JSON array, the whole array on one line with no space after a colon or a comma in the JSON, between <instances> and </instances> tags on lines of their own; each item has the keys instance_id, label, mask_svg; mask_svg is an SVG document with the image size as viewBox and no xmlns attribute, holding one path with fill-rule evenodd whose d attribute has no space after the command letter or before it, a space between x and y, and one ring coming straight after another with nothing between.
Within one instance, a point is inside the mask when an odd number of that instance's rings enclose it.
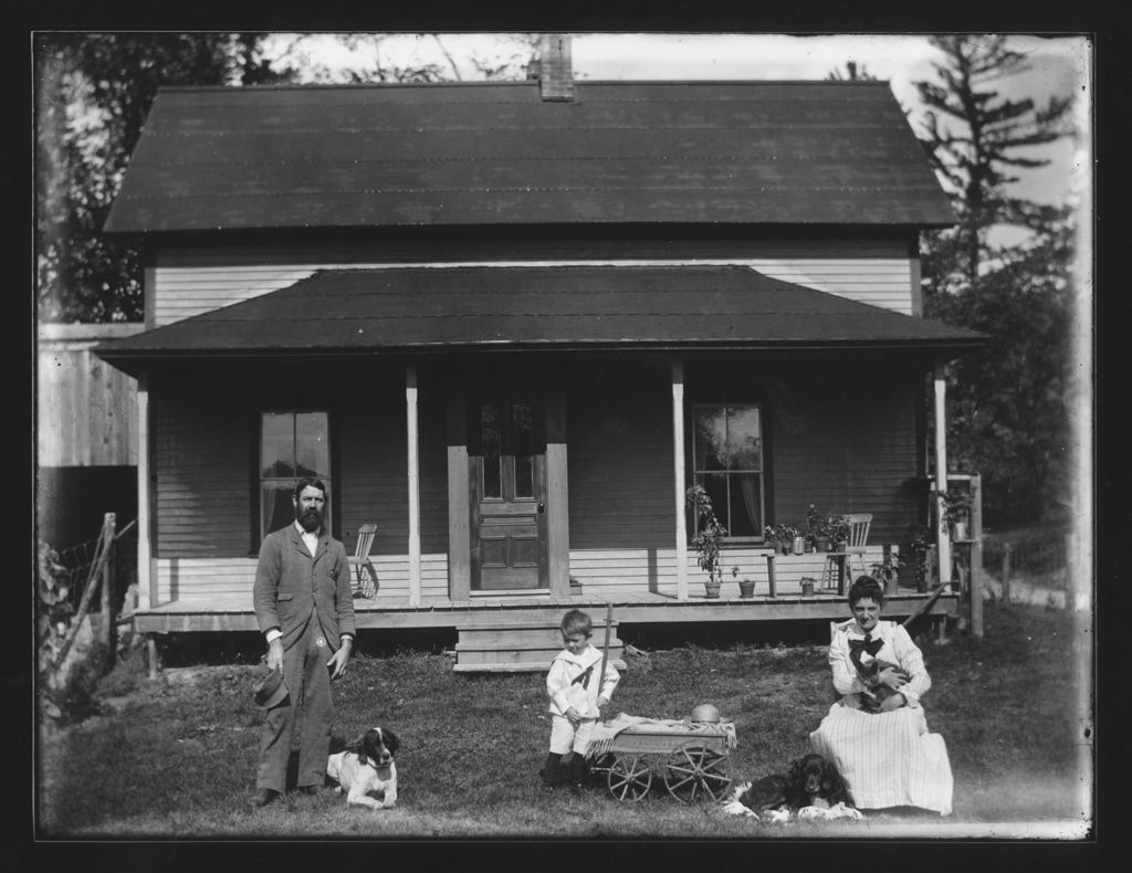
<instances>
[{"instance_id":1,"label":"small boy's white sailor blouse and short trousers","mask_svg":"<svg viewBox=\"0 0 1132 873\"><path fill-rule=\"evenodd\" d=\"M555 656L547 674L547 694L550 697L550 751L565 755L572 748L585 754L593 726L598 722L598 697L610 700L614 688L620 682L620 674L612 664L606 664L601 671L601 652L588 645L581 654L563 649ZM573 707L582 716L575 729L566 718L566 710Z\"/></svg>"}]
</instances>

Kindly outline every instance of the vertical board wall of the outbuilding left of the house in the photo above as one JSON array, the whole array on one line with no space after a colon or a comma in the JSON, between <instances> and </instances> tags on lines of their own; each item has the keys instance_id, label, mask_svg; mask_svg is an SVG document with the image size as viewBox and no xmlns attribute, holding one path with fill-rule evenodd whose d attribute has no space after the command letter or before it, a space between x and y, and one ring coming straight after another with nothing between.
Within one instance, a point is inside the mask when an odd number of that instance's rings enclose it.
<instances>
[{"instance_id":1,"label":"vertical board wall of the outbuilding left of the house","mask_svg":"<svg viewBox=\"0 0 1132 873\"><path fill-rule=\"evenodd\" d=\"M40 326L40 467L137 467L137 380L91 349L143 329L142 324Z\"/></svg>"}]
</instances>

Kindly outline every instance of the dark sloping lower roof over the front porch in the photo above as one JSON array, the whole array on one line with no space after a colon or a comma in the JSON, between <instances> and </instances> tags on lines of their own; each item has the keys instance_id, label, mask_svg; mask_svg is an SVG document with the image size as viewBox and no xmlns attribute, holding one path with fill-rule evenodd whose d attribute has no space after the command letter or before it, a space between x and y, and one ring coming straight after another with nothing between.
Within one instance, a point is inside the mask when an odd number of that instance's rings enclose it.
<instances>
[{"instance_id":1,"label":"dark sloping lower roof over the front porch","mask_svg":"<svg viewBox=\"0 0 1132 873\"><path fill-rule=\"evenodd\" d=\"M320 271L95 352L146 361L455 350L929 349L983 334L771 279L744 266Z\"/></svg>"}]
</instances>

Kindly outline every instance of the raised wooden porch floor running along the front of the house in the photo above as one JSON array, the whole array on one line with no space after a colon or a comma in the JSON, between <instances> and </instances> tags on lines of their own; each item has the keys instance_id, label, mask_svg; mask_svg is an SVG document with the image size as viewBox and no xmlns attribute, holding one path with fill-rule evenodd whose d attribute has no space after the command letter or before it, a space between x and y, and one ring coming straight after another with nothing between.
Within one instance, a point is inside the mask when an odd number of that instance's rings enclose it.
<instances>
[{"instance_id":1,"label":"raised wooden porch floor running along the front of the house","mask_svg":"<svg viewBox=\"0 0 1132 873\"><path fill-rule=\"evenodd\" d=\"M926 593L912 590L891 594L885 599L884 616L903 619L915 611ZM256 631L251 598L213 599L208 601L178 600L146 610L122 615L120 620L131 623L139 633L201 633L212 631ZM546 594L514 597L475 597L470 600L429 600L410 606L408 597L378 597L374 600L354 600L359 631L391 628L453 627L499 620L537 620L560 614L566 609L585 609L604 615L607 605L614 608L614 619L625 624L667 624L671 622L782 622L843 619L849 617L844 596L835 590L820 590L812 597L780 594L741 599L738 594L721 593L709 600L703 593L689 594L680 601L675 597L652 592L572 594L554 598ZM929 615L954 616L959 594L947 592L933 605Z\"/></svg>"}]
</instances>

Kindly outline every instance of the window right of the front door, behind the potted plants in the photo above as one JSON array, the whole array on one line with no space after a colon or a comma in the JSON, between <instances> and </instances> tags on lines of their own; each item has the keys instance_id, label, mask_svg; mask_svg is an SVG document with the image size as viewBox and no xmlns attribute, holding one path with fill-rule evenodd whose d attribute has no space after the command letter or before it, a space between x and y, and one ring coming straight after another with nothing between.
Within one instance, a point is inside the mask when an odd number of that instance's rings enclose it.
<instances>
[{"instance_id":1,"label":"window right of the front door, behind the potted plants","mask_svg":"<svg viewBox=\"0 0 1132 873\"><path fill-rule=\"evenodd\" d=\"M763 539L762 418L757 403L692 408L694 480L711 497L728 540Z\"/></svg>"}]
</instances>

